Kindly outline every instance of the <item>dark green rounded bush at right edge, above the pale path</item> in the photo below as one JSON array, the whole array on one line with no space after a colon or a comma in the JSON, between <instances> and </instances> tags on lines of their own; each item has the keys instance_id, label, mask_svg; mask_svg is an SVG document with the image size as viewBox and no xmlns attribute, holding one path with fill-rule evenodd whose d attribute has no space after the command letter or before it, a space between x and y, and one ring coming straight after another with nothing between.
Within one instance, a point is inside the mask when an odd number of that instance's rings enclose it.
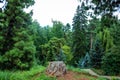
<instances>
[{"instance_id":1,"label":"dark green rounded bush at right edge, above the pale path","mask_svg":"<svg viewBox=\"0 0 120 80\"><path fill-rule=\"evenodd\" d=\"M107 75L120 74L120 47L112 48L103 56L102 69Z\"/></svg>"}]
</instances>

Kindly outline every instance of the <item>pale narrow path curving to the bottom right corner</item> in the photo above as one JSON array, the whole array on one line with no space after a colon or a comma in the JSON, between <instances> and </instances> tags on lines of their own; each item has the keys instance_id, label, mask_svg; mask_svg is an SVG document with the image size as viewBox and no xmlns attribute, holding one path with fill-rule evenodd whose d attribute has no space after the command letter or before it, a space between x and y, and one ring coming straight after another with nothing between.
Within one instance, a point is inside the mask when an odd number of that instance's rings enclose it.
<instances>
[{"instance_id":1,"label":"pale narrow path curving to the bottom right corner","mask_svg":"<svg viewBox=\"0 0 120 80\"><path fill-rule=\"evenodd\" d=\"M88 72L89 74L93 75L93 76L97 76L97 77L103 77L103 78L107 78L107 79L112 79L113 77L115 79L120 79L120 77L116 77L116 76L103 76L103 75L98 75L97 73L95 73L94 71L92 71L91 69L82 69L86 72Z\"/></svg>"}]
</instances>

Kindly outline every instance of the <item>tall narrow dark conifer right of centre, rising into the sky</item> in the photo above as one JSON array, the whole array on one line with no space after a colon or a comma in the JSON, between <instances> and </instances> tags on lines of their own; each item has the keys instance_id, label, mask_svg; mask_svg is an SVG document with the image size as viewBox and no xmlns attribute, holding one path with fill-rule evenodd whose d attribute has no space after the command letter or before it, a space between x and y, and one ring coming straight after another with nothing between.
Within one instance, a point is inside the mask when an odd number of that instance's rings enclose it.
<instances>
[{"instance_id":1,"label":"tall narrow dark conifer right of centre, rising into the sky","mask_svg":"<svg viewBox=\"0 0 120 80\"><path fill-rule=\"evenodd\" d=\"M77 7L73 18L73 63L75 66L86 53L86 18L85 5L82 3L81 7Z\"/></svg>"}]
</instances>

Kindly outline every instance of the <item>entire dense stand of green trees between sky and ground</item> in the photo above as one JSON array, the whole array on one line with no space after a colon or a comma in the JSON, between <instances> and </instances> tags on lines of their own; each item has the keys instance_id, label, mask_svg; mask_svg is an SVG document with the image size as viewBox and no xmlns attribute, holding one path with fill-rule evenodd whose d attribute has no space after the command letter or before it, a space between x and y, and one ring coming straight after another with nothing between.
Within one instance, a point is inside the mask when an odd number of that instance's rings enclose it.
<instances>
[{"instance_id":1,"label":"entire dense stand of green trees between sky and ground","mask_svg":"<svg viewBox=\"0 0 120 80\"><path fill-rule=\"evenodd\" d=\"M32 19L32 11L24 11L34 3L6 0L0 11L1 70L29 70L64 61L120 75L120 20L114 15L120 11L119 0L80 0L72 25L52 20L52 26L41 26Z\"/></svg>"}]
</instances>

